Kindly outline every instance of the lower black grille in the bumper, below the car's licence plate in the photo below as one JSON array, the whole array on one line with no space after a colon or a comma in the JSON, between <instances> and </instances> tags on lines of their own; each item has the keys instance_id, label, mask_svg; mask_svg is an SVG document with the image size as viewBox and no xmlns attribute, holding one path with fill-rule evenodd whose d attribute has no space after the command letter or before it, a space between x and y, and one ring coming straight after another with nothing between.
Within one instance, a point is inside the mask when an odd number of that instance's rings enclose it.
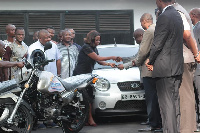
<instances>
[{"instance_id":1,"label":"lower black grille in the bumper, below the car's licence plate","mask_svg":"<svg viewBox=\"0 0 200 133\"><path fill-rule=\"evenodd\" d=\"M115 110L132 110L132 109L145 109L145 100L131 100L131 101L117 101L115 104Z\"/></svg>"}]
</instances>

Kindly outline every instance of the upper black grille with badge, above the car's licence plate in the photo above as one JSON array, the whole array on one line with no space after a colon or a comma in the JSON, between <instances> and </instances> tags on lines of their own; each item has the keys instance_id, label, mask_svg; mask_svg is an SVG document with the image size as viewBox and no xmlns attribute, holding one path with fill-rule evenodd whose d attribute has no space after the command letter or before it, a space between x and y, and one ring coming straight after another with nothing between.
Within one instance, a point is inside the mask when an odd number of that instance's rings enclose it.
<instances>
[{"instance_id":1,"label":"upper black grille with badge, above the car's licence plate","mask_svg":"<svg viewBox=\"0 0 200 133\"><path fill-rule=\"evenodd\" d=\"M140 84L140 81L118 82L117 86L120 89L120 91L138 91L143 89L143 86L142 84Z\"/></svg>"}]
</instances>

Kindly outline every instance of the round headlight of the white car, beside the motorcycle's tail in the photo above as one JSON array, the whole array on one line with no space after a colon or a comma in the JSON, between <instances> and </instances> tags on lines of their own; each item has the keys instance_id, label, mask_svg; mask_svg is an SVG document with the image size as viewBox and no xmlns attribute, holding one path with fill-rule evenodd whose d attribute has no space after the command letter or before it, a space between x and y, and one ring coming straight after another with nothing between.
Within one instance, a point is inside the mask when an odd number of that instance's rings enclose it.
<instances>
[{"instance_id":1,"label":"round headlight of the white car, beside the motorcycle's tail","mask_svg":"<svg viewBox=\"0 0 200 133\"><path fill-rule=\"evenodd\" d=\"M98 78L95 83L95 88L99 91L107 91L110 89L110 82L105 78Z\"/></svg>"}]
</instances>

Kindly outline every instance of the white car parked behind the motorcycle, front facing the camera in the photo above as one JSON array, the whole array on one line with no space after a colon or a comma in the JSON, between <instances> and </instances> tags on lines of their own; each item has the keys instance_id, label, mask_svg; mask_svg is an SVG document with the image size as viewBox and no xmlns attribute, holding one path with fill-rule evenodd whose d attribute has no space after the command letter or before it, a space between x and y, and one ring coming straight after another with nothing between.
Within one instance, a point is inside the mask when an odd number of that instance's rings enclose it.
<instances>
[{"instance_id":1,"label":"white car parked behind the motorcycle, front facing the camera","mask_svg":"<svg viewBox=\"0 0 200 133\"><path fill-rule=\"evenodd\" d=\"M97 47L100 56L130 57L137 53L138 45L108 44ZM107 62L114 62L109 60ZM117 63L122 64L122 62ZM93 114L101 116L132 115L146 112L145 93L140 84L138 67L119 70L98 63L92 74L105 79L95 85Z\"/></svg>"}]
</instances>

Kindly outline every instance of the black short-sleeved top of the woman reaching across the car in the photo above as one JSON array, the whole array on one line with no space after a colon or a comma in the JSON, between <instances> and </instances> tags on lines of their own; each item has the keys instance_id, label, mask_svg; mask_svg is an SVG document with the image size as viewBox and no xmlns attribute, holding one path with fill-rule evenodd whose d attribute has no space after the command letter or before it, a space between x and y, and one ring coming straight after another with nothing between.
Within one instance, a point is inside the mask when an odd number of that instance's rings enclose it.
<instances>
[{"instance_id":1,"label":"black short-sleeved top of the woman reaching across the car","mask_svg":"<svg viewBox=\"0 0 200 133\"><path fill-rule=\"evenodd\" d=\"M78 63L73 75L92 73L96 61L90 58L88 54L93 52L95 52L97 55L99 54L96 47L92 47L89 44L84 44L82 46L78 55Z\"/></svg>"}]
</instances>

